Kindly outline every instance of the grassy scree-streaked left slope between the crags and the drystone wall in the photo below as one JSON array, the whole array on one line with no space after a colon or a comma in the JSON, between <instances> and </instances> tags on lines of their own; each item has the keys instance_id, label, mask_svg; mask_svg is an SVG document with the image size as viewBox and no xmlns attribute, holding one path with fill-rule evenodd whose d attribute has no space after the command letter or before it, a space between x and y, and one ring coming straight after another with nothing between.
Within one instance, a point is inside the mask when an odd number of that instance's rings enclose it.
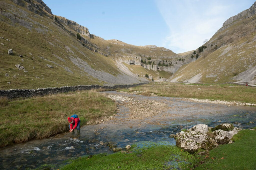
<instances>
[{"instance_id":1,"label":"grassy scree-streaked left slope between the crags and the drystone wall","mask_svg":"<svg viewBox=\"0 0 256 170\"><path fill-rule=\"evenodd\" d=\"M14 3L6 4L6 11L0 15L1 89L104 83L84 71L86 67L120 74L112 59L83 47L51 18ZM14 55L7 54L9 49Z\"/></svg>"}]
</instances>

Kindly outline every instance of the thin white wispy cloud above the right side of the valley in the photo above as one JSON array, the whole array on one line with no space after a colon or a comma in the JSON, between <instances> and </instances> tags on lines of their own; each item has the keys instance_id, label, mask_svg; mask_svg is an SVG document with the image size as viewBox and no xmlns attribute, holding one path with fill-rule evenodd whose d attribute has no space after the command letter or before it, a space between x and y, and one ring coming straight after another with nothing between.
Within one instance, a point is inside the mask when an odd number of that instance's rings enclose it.
<instances>
[{"instance_id":1,"label":"thin white wispy cloud above the right side of the valley","mask_svg":"<svg viewBox=\"0 0 256 170\"><path fill-rule=\"evenodd\" d=\"M169 27L163 46L175 53L195 50L210 39L227 20L230 6L218 1L157 0L157 7ZM225 15L224 15L225 14Z\"/></svg>"}]
</instances>

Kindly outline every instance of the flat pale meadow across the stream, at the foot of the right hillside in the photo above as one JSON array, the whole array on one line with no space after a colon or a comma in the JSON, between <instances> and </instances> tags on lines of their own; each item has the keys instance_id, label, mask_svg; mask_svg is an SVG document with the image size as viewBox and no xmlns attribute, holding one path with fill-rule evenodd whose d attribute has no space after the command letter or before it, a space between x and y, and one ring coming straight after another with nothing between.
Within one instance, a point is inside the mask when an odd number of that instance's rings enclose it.
<instances>
[{"instance_id":1,"label":"flat pale meadow across the stream, at the foot of the right hillside","mask_svg":"<svg viewBox=\"0 0 256 170\"><path fill-rule=\"evenodd\" d=\"M222 101L237 101L241 103L256 103L255 87L246 87L235 84L188 84L153 82L141 86L122 89L119 91L140 91L141 95L196 98Z\"/></svg>"}]
</instances>

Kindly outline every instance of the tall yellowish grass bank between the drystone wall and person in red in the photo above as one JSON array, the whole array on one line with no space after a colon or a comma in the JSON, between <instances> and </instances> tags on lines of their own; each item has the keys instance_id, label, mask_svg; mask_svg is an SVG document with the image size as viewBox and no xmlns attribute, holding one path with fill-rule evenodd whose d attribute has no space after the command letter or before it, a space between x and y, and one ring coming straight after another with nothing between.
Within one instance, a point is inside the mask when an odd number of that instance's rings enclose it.
<instances>
[{"instance_id":1,"label":"tall yellowish grass bank between the drystone wall and person in red","mask_svg":"<svg viewBox=\"0 0 256 170\"><path fill-rule=\"evenodd\" d=\"M95 90L8 101L0 99L0 146L42 139L68 131L67 118L77 114L81 126L113 115L114 101Z\"/></svg>"}]
</instances>

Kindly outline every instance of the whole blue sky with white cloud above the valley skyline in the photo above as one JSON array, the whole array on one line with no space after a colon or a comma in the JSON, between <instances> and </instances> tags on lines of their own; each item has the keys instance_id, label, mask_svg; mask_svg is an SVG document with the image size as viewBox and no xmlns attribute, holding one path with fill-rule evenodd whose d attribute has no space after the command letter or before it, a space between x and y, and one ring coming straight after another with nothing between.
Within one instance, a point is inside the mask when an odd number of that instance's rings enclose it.
<instances>
[{"instance_id":1,"label":"whole blue sky with white cloud above the valley skyline","mask_svg":"<svg viewBox=\"0 0 256 170\"><path fill-rule=\"evenodd\" d=\"M196 50L253 0L43 0L52 14L105 40L156 45L175 53Z\"/></svg>"}]
</instances>

